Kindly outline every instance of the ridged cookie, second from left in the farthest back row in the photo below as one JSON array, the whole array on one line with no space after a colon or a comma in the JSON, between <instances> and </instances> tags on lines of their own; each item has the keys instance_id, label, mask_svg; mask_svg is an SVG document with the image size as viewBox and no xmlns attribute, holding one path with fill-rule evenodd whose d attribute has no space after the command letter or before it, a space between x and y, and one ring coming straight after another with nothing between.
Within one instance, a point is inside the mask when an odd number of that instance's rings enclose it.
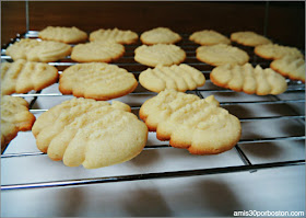
<instances>
[{"instance_id":1,"label":"ridged cookie, second from left in the farthest back row","mask_svg":"<svg viewBox=\"0 0 306 218\"><path fill-rule=\"evenodd\" d=\"M90 34L90 41L114 41L120 44L132 44L138 41L137 33L132 31L121 31L118 28L101 28Z\"/></svg>"}]
</instances>

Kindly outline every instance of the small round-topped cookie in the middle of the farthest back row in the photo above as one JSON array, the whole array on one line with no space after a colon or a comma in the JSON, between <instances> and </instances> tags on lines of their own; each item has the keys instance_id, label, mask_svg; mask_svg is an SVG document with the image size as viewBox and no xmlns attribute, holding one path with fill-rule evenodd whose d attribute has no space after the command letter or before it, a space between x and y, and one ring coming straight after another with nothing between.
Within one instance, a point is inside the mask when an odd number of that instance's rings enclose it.
<instances>
[{"instance_id":1,"label":"small round-topped cookie in the middle of the farthest back row","mask_svg":"<svg viewBox=\"0 0 306 218\"><path fill-rule=\"evenodd\" d=\"M167 27L157 27L151 31L146 31L141 34L140 39L143 44L174 44L181 39L180 35L173 32Z\"/></svg>"}]
</instances>

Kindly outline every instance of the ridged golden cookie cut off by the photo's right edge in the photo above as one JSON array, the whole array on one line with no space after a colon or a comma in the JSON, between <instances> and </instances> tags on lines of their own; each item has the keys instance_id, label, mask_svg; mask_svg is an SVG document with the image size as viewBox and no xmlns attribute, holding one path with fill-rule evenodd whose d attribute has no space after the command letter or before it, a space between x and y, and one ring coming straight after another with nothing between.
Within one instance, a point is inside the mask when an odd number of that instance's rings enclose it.
<instances>
[{"instance_id":1,"label":"ridged golden cookie cut off by the photo's right edge","mask_svg":"<svg viewBox=\"0 0 306 218\"><path fill-rule=\"evenodd\" d=\"M301 80L305 83L305 59L302 57L284 56L273 60L270 68L291 80Z\"/></svg>"}]
</instances>

